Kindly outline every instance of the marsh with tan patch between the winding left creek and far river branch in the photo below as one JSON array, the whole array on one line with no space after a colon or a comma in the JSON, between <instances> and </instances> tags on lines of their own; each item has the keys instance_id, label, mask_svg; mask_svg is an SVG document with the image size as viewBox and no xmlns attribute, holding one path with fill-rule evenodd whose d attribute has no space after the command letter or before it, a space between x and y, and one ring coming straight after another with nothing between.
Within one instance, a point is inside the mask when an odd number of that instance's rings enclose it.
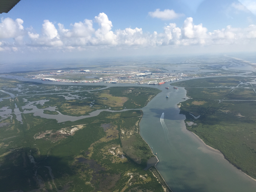
<instances>
[{"instance_id":1,"label":"marsh with tan patch between the winding left creek and far river branch","mask_svg":"<svg viewBox=\"0 0 256 192\"><path fill-rule=\"evenodd\" d=\"M15 104L17 106L26 104L24 99L31 102L42 100L41 104L36 105L37 108L56 106L60 113L69 116L89 115L97 109L142 108L160 92L159 89L150 87L110 87L98 90L104 86L48 85L33 82L21 83L18 80L3 78L0 80L0 89L18 96L16 99L0 102L0 107L9 107L14 110ZM20 107L21 112L22 110Z\"/></svg>"}]
</instances>

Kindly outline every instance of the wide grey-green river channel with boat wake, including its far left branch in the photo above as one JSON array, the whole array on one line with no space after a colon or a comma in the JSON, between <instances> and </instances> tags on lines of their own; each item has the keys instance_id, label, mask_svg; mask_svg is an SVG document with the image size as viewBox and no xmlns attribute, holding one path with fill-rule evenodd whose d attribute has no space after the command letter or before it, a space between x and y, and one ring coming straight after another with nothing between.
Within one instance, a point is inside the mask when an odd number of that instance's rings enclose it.
<instances>
[{"instance_id":1,"label":"wide grey-green river channel with boat wake, including its far left branch","mask_svg":"<svg viewBox=\"0 0 256 192\"><path fill-rule=\"evenodd\" d=\"M14 77L8 76L8 78ZM22 80L46 84L69 84L23 77ZM70 83L70 85L74 84ZM219 151L205 145L194 133L186 129L185 115L179 114L180 109L177 106L184 101L182 98L186 97L184 88L173 89L169 82L161 85L105 83L97 83L97 85L150 86L162 90L142 108L144 115L140 123L140 134L154 154L157 153L159 162L156 168L173 192L256 191L256 180L236 169ZM166 98L166 95L170 97Z\"/></svg>"}]
</instances>

